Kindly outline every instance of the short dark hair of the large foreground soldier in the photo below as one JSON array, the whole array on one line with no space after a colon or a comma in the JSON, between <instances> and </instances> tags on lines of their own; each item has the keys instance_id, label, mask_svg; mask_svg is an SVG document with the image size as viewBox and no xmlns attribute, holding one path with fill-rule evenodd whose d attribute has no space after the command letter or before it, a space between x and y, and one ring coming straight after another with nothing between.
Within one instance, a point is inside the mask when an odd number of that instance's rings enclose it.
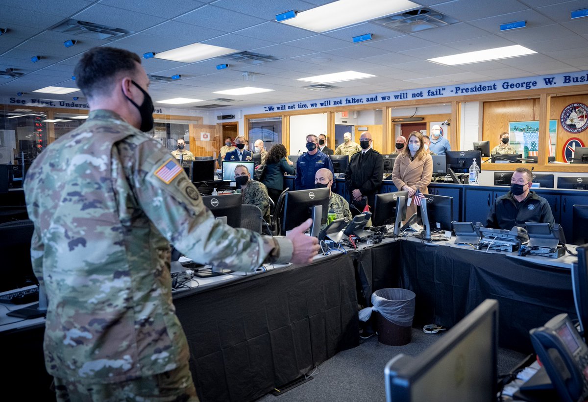
<instances>
[{"instance_id":1,"label":"short dark hair of the large foreground soldier","mask_svg":"<svg viewBox=\"0 0 588 402\"><path fill-rule=\"evenodd\" d=\"M125 49L92 48L75 66L75 82L88 98L106 95L120 76L135 75L138 64L141 58Z\"/></svg>"}]
</instances>

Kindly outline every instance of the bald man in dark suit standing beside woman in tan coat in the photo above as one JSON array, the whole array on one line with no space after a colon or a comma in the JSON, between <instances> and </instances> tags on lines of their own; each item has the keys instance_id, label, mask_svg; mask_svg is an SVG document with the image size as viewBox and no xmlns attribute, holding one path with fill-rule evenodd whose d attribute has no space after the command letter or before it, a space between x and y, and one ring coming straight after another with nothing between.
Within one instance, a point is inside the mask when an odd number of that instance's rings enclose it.
<instances>
[{"instance_id":1,"label":"bald man in dark suit standing beside woman in tan coat","mask_svg":"<svg viewBox=\"0 0 588 402\"><path fill-rule=\"evenodd\" d=\"M372 149L372 135L368 131L362 132L359 145L362 150L351 156L345 172L345 184L351 203L363 211L366 203L373 207L377 190L382 186L384 161L382 155Z\"/></svg>"}]
</instances>

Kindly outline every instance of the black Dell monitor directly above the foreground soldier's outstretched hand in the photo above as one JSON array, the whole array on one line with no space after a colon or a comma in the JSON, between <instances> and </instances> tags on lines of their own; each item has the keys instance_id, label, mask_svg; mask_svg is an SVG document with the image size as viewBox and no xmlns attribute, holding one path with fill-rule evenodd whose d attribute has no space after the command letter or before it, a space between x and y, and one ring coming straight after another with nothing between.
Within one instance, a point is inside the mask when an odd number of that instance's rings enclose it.
<instances>
[{"instance_id":1,"label":"black Dell monitor directly above the foreground soldier's outstretched hand","mask_svg":"<svg viewBox=\"0 0 588 402\"><path fill-rule=\"evenodd\" d=\"M286 192L284 197L284 215L282 232L292 230L309 217L312 217L312 207L323 207L321 223L327 222L329 214L330 189L295 190Z\"/></svg>"}]
</instances>

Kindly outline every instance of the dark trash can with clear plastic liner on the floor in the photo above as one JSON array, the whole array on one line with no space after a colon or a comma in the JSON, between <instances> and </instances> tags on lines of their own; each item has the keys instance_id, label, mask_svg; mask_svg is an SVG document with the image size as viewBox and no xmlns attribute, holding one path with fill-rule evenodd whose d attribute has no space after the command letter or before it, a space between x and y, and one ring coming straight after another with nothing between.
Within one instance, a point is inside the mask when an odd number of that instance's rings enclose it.
<instances>
[{"instance_id":1,"label":"dark trash can with clear plastic liner on the floor","mask_svg":"<svg viewBox=\"0 0 588 402\"><path fill-rule=\"evenodd\" d=\"M388 288L372 294L376 311L377 339L386 345L410 343L412 319L415 317L415 293L407 289Z\"/></svg>"}]
</instances>

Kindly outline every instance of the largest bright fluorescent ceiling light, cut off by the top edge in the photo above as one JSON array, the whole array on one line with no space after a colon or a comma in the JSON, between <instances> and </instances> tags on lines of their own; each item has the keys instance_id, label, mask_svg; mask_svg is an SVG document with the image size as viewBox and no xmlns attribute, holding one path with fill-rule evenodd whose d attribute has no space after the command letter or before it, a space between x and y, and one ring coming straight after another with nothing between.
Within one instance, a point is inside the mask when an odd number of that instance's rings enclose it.
<instances>
[{"instance_id":1,"label":"largest bright fluorescent ceiling light, cut off by the top edge","mask_svg":"<svg viewBox=\"0 0 588 402\"><path fill-rule=\"evenodd\" d=\"M408 0L339 0L299 12L281 24L326 32L417 7L420 5Z\"/></svg>"}]
</instances>

